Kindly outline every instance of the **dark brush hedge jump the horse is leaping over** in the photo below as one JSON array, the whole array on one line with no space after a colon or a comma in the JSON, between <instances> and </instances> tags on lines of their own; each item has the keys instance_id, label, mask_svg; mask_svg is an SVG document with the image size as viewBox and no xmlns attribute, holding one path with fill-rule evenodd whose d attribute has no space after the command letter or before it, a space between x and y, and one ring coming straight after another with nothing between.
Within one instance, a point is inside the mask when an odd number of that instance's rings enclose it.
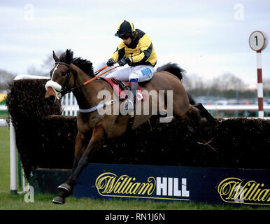
<instances>
[{"instance_id":1,"label":"dark brush hedge jump the horse is leaping over","mask_svg":"<svg viewBox=\"0 0 270 224\"><path fill-rule=\"evenodd\" d=\"M78 132L75 116L45 104L46 80L15 80L6 104L27 178L36 168L71 169ZM220 119L159 123L153 116L137 130L109 139L91 162L194 167L270 168L270 120Z\"/></svg>"}]
</instances>

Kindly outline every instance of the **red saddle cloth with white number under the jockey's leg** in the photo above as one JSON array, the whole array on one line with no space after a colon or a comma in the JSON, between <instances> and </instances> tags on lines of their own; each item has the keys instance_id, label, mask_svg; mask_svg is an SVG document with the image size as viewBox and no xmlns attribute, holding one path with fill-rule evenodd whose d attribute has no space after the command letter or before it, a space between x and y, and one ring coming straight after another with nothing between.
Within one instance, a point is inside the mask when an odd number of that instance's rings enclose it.
<instances>
[{"instance_id":1,"label":"red saddle cloth with white number under the jockey's leg","mask_svg":"<svg viewBox=\"0 0 270 224\"><path fill-rule=\"evenodd\" d=\"M113 88L115 94L119 97L120 100L127 99L127 93L124 92L124 90L130 90L130 83L129 82L122 82L116 78L103 78L106 80L107 83L111 85ZM138 91L136 94L137 100L143 101L145 100L145 94L141 91L140 85L138 85Z\"/></svg>"}]
</instances>

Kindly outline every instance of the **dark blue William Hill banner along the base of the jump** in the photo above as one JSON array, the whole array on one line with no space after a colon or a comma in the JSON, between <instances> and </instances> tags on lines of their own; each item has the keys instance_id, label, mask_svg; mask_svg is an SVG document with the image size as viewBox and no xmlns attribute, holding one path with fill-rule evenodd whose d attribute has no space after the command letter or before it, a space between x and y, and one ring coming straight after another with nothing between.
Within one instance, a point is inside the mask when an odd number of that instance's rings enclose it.
<instances>
[{"instance_id":1,"label":"dark blue William Hill banner along the base of the jump","mask_svg":"<svg viewBox=\"0 0 270 224\"><path fill-rule=\"evenodd\" d=\"M270 205L270 171L89 164L73 196Z\"/></svg>"}]
</instances>

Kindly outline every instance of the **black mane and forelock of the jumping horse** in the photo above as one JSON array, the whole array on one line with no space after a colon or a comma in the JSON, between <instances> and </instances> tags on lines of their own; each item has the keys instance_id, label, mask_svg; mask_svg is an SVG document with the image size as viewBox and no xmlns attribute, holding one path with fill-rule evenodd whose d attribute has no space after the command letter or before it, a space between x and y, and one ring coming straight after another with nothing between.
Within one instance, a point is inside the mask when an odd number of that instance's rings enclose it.
<instances>
[{"instance_id":1,"label":"black mane and forelock of the jumping horse","mask_svg":"<svg viewBox=\"0 0 270 224\"><path fill-rule=\"evenodd\" d=\"M66 55L68 52L68 55ZM81 57L73 57L73 51L71 49L66 50L59 57L58 62L64 62L66 64L74 64L78 66L78 68L82 69L83 72L87 73L89 76L94 76L93 64L87 59L83 59Z\"/></svg>"}]
</instances>

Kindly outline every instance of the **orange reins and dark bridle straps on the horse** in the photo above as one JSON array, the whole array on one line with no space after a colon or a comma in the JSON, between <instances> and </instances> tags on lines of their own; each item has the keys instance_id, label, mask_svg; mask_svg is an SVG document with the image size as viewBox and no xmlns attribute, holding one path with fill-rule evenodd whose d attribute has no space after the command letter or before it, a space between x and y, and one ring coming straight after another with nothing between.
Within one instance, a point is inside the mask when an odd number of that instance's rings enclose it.
<instances>
[{"instance_id":1,"label":"orange reins and dark bridle straps on the horse","mask_svg":"<svg viewBox=\"0 0 270 224\"><path fill-rule=\"evenodd\" d=\"M66 63L64 63L64 62L55 62L55 64L64 64L64 65L68 66L69 68L71 68L71 66L70 66L69 64L66 64ZM119 65L113 67L112 69L108 69L107 71L104 71L103 73L97 75L98 73L100 73L100 72L103 71L104 69L108 68L108 65L106 65L106 66L104 66L103 68L101 68L101 69L99 69L99 70L97 70L97 71L94 71L94 75L96 75L96 76L94 76L94 78L91 78L90 80L87 80L85 83L82 83L82 84L80 84L80 85L78 85L78 86L76 86L76 87L73 87L73 88L69 89L69 90L66 89L66 87L64 87L63 90L60 90L60 91L57 93L57 96L60 98L60 97L62 97L62 96L63 96L64 94L66 94L66 93L73 92L73 90L76 90L76 89L78 89L79 87L83 87L84 85L87 85L88 83L91 83L93 80L99 78L99 76L102 76L102 75L104 75L105 73L107 73L108 71L111 71L111 70L113 70L113 69L116 69L117 67L119 67ZM68 75L68 77L66 78L66 82L65 82L64 84L66 84L66 83L68 82L69 77L70 77L70 72L68 72L67 75Z\"/></svg>"}]
</instances>

